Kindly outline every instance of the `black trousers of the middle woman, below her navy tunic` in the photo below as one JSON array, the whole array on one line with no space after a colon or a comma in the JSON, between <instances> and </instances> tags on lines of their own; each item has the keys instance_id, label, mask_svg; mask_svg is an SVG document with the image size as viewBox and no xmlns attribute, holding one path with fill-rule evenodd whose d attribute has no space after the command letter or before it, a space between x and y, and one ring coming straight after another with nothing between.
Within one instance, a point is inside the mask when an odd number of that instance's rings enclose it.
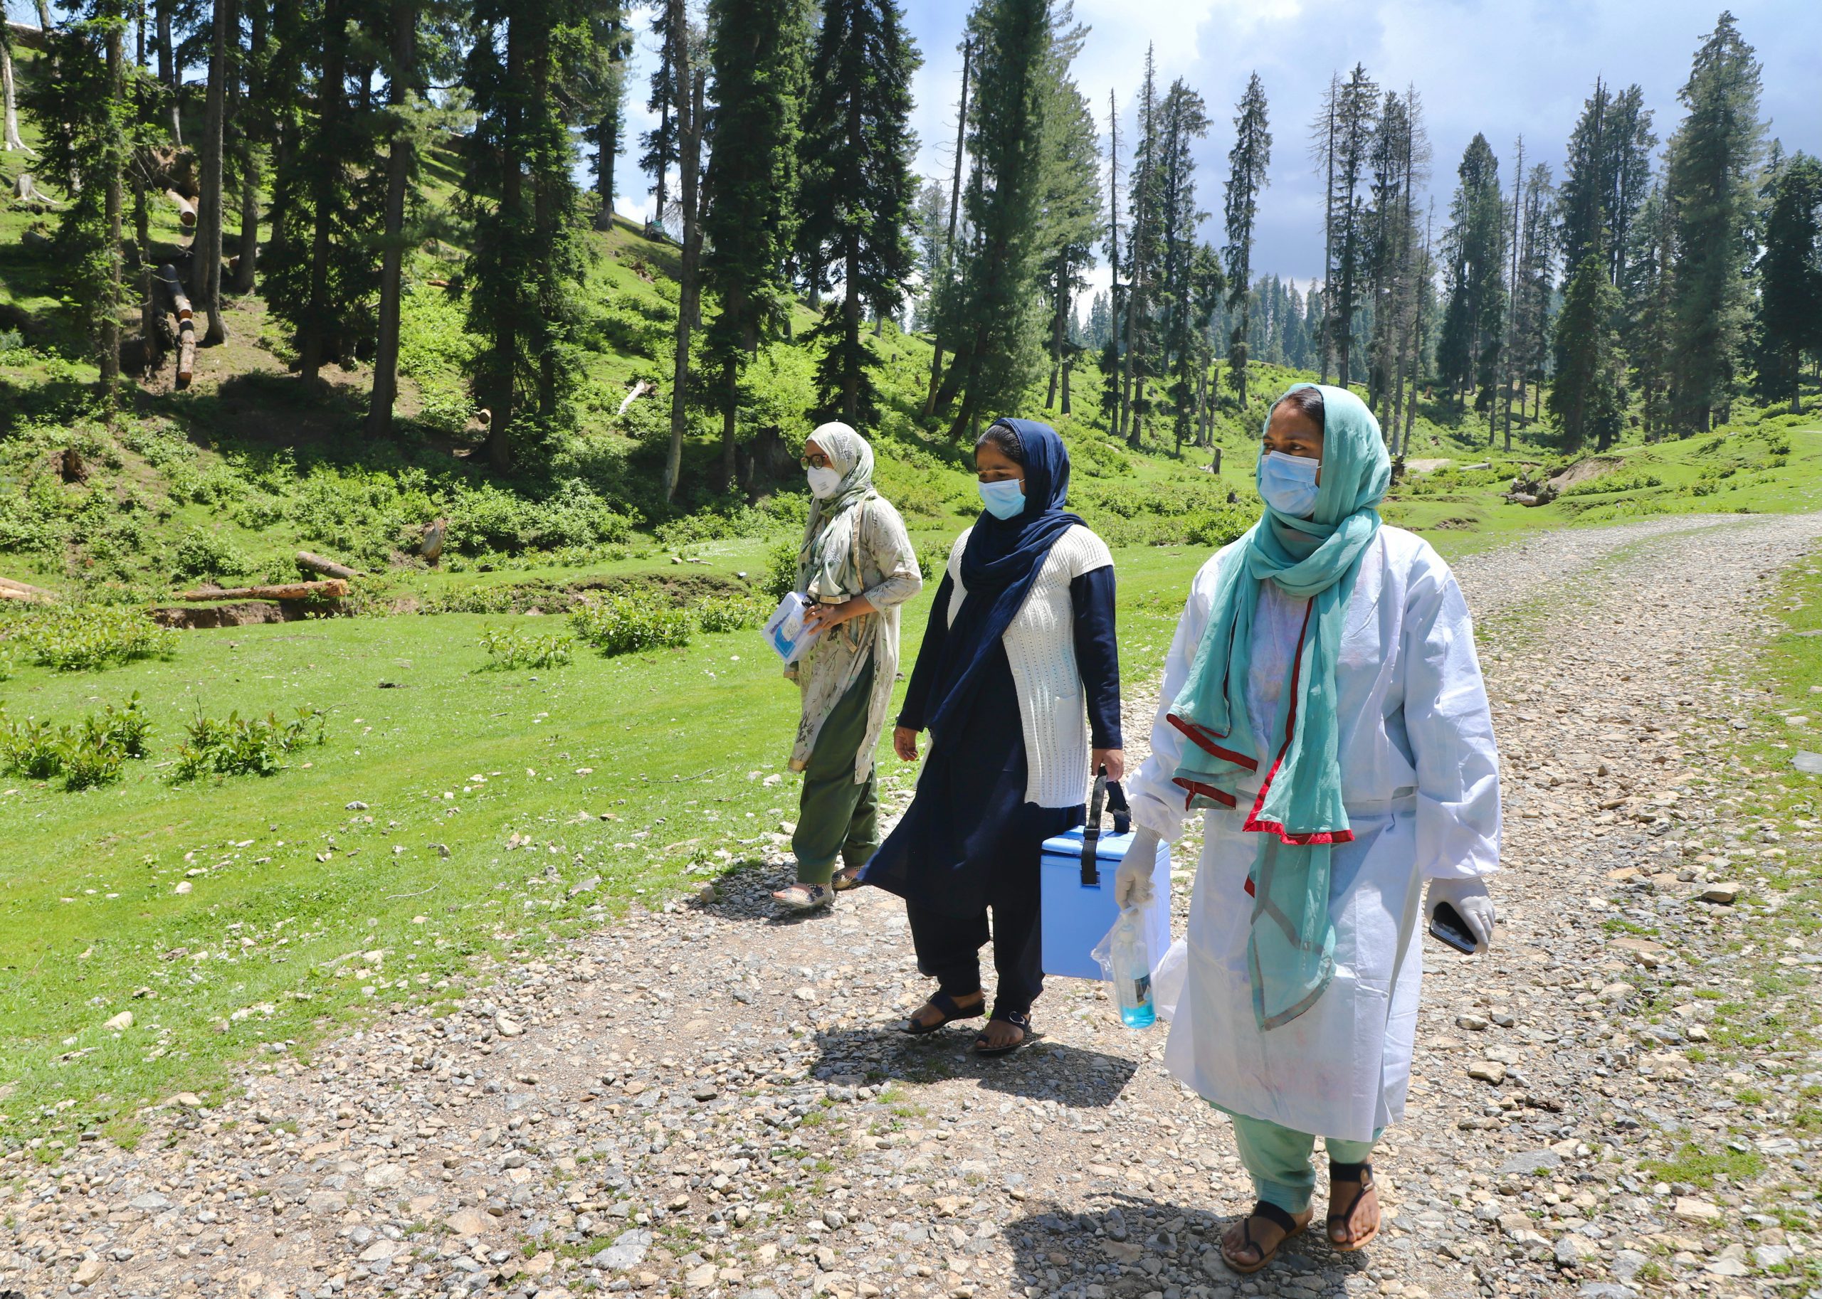
<instances>
[{"instance_id":1,"label":"black trousers of the middle woman, below her navy tunic","mask_svg":"<svg viewBox=\"0 0 1822 1299\"><path fill-rule=\"evenodd\" d=\"M955 916L918 902L906 902L916 967L935 978L949 997L960 998L980 989L980 949L988 942L993 944L993 971L998 975L993 997L997 1018L1029 1015L1031 1002L1044 991L1039 891L1042 844L1042 838L1031 838L1028 845L1017 845L995 864L988 905L977 915Z\"/></svg>"}]
</instances>

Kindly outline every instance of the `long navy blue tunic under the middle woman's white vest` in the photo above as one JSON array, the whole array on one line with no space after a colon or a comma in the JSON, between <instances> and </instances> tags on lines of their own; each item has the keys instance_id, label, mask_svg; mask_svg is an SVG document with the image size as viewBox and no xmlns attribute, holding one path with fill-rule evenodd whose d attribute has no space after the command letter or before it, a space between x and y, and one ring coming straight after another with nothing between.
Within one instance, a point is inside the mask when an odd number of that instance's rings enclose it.
<instances>
[{"instance_id":1,"label":"long navy blue tunic under the middle woman's white vest","mask_svg":"<svg viewBox=\"0 0 1822 1299\"><path fill-rule=\"evenodd\" d=\"M955 581L937 588L898 725L924 729L935 663L949 630ZM1121 743L1121 665L1113 634L1113 568L1070 583L1075 661L1088 694L1095 749ZM931 743L916 794L904 818L867 862L864 880L907 902L951 916L978 916L1004 887L1035 887L1046 838L1082 823L1082 805L1026 802L1024 727L1004 641L982 667L978 701L960 725Z\"/></svg>"}]
</instances>

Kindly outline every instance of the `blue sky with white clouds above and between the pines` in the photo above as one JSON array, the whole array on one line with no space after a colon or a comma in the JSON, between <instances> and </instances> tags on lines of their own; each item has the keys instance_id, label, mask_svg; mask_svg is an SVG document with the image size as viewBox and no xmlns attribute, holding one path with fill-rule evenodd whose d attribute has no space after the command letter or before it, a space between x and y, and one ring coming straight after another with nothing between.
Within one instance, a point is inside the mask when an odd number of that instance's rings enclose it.
<instances>
[{"instance_id":1,"label":"blue sky with white clouds above and between the pines","mask_svg":"<svg viewBox=\"0 0 1822 1299\"><path fill-rule=\"evenodd\" d=\"M957 44L971 0L902 0L924 51L916 78L918 171L947 177L955 148ZM1201 142L1199 200L1217 213L1203 231L1221 242L1221 186L1233 142L1233 104L1257 71L1272 111L1272 186L1261 202L1254 266L1308 279L1323 262L1323 191L1308 159L1308 124L1332 71L1356 62L1385 87L1416 86L1434 148L1432 193L1448 204L1454 169L1476 131L1487 135L1510 179L1518 137L1530 160L1561 173L1563 146L1596 77L1638 82L1656 113L1658 137L1680 118L1676 91L1689 60L1713 31L1718 0L1075 0L1090 27L1075 64L1077 84L1104 118L1108 91L1121 113L1122 151L1146 46L1157 49L1162 84L1182 77L1208 100L1215 129ZM1822 153L1822 4L1740 0L1745 40L1764 64L1762 115L1786 149ZM636 58L634 129L649 129L645 77L654 44ZM1106 124L1102 122L1102 131ZM630 140L629 140L630 144ZM629 149L638 157L638 149ZM650 208L649 180L630 159L618 171L621 211ZM1104 282L1106 268L1097 281Z\"/></svg>"}]
</instances>

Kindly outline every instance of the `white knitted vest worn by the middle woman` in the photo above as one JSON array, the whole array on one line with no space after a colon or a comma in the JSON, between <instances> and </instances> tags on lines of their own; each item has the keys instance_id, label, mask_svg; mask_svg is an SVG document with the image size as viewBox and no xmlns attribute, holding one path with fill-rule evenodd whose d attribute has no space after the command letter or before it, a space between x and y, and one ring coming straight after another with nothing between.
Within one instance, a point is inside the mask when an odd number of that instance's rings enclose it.
<instances>
[{"instance_id":1,"label":"white knitted vest worn by the middle woman","mask_svg":"<svg viewBox=\"0 0 1822 1299\"><path fill-rule=\"evenodd\" d=\"M971 532L973 528L969 528ZM967 532L949 548L949 623L967 588L962 550ZM1113 567L1108 543L1077 525L1057 537L1039 568L1031 594L1013 616L1002 643L1018 687L1018 720L1026 740L1026 802L1075 807L1088 796L1088 692L1075 665L1075 609L1070 583L1084 572Z\"/></svg>"}]
</instances>

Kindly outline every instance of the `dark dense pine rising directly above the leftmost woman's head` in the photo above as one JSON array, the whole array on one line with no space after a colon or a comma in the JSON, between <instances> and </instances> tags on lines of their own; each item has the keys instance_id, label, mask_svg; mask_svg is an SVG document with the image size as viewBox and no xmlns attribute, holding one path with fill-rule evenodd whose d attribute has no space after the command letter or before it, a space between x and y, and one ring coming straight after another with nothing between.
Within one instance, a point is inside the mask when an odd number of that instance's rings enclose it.
<instances>
[{"instance_id":1,"label":"dark dense pine rising directly above the leftmost woman's head","mask_svg":"<svg viewBox=\"0 0 1822 1299\"><path fill-rule=\"evenodd\" d=\"M909 118L922 62L896 0L824 0L804 102L800 244L809 268L840 270L842 302L811 339L827 344L816 372L822 410L849 424L876 417L867 372L880 357L862 337L862 312L895 312L913 271Z\"/></svg>"}]
</instances>

